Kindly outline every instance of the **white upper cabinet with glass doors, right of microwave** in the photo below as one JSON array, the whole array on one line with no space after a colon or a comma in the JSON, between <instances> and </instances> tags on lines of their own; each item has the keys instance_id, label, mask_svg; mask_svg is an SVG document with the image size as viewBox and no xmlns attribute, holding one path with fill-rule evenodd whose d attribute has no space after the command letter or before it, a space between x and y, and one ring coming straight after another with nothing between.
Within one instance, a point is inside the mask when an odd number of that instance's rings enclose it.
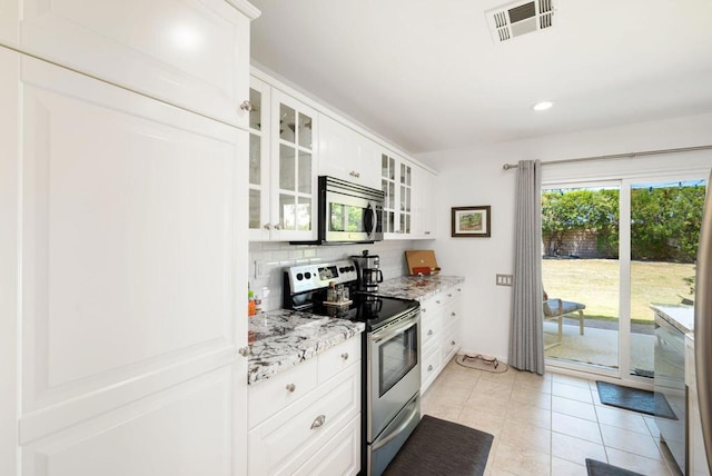
<instances>
[{"instance_id":1,"label":"white upper cabinet with glass doors, right of microwave","mask_svg":"<svg viewBox=\"0 0 712 476\"><path fill-rule=\"evenodd\" d=\"M390 239L411 238L413 166L390 152L380 153L380 189L386 195L383 230Z\"/></svg>"}]
</instances>

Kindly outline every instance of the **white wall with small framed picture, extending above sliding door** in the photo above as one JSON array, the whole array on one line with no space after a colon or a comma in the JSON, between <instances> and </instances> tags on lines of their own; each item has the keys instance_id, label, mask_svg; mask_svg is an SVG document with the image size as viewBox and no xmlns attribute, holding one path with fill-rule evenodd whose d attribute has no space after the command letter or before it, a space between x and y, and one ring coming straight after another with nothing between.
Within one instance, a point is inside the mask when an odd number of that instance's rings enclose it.
<instances>
[{"instance_id":1,"label":"white wall with small framed picture, extending above sliding door","mask_svg":"<svg viewBox=\"0 0 712 476\"><path fill-rule=\"evenodd\" d=\"M555 111L552 111L555 112ZM463 350L506 361L512 288L495 286L496 274L512 274L516 170L502 166L712 145L712 115L678 118L447 150L417 158L441 170L439 238L434 244L443 274L465 276ZM709 170L712 150L675 156L585 161L543 167L543 180L586 180L678 170ZM451 207L492 206L492 238L449 238ZM516 277L515 277L516 278Z\"/></svg>"}]
</instances>

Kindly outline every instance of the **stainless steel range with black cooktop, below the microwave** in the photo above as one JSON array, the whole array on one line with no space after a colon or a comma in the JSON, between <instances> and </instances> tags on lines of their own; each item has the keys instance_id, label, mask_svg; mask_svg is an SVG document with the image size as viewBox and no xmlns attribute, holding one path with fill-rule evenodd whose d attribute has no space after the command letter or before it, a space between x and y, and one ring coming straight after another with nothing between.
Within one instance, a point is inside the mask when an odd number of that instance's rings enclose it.
<instances>
[{"instance_id":1,"label":"stainless steel range with black cooktop, below the microwave","mask_svg":"<svg viewBox=\"0 0 712 476\"><path fill-rule=\"evenodd\" d=\"M285 268L283 307L366 325L362 468L380 475L421 419L421 313L418 301L364 292L359 285L349 259ZM342 303L329 301L334 296Z\"/></svg>"}]
</instances>

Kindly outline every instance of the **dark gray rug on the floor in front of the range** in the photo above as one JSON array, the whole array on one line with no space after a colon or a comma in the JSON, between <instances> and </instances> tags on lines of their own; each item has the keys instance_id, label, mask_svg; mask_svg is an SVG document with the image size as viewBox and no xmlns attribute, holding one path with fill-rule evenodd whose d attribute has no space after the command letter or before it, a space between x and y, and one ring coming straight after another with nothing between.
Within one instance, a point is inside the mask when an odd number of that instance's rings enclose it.
<instances>
[{"instance_id":1,"label":"dark gray rug on the floor in front of the range","mask_svg":"<svg viewBox=\"0 0 712 476\"><path fill-rule=\"evenodd\" d=\"M384 475L482 476L493 439L488 433L425 415Z\"/></svg>"}]
</instances>

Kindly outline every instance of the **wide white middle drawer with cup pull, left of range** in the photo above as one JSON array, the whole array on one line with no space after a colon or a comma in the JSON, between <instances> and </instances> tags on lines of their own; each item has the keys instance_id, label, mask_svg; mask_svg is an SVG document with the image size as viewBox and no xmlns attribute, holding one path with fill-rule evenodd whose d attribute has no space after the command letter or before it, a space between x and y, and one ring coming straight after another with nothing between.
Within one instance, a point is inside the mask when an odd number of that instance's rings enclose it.
<instances>
[{"instance_id":1,"label":"wide white middle drawer with cup pull, left of range","mask_svg":"<svg viewBox=\"0 0 712 476\"><path fill-rule=\"evenodd\" d=\"M293 474L360 413L360 366L353 365L248 435L248 473Z\"/></svg>"}]
</instances>

